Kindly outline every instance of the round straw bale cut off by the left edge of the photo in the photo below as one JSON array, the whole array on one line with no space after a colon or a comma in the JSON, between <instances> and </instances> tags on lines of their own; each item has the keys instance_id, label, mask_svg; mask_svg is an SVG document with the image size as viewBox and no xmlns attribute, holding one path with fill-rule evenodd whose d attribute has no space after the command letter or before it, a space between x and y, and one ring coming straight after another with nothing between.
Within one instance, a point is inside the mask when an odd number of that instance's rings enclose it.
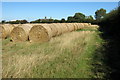
<instances>
[{"instance_id":1,"label":"round straw bale cut off by the left edge of the photo","mask_svg":"<svg viewBox=\"0 0 120 80\"><path fill-rule=\"evenodd\" d=\"M11 31L14 28L12 24L3 24L2 26L2 39L5 39L10 36Z\"/></svg>"}]
</instances>

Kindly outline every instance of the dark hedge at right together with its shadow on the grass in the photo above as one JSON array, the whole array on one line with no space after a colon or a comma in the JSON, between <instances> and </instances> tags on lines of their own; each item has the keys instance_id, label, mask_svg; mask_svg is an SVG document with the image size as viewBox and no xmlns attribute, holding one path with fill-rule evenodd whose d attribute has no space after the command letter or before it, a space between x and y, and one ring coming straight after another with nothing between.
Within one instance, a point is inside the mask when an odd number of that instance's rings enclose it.
<instances>
[{"instance_id":1,"label":"dark hedge at right together with its shadow on the grass","mask_svg":"<svg viewBox=\"0 0 120 80\"><path fill-rule=\"evenodd\" d=\"M120 7L107 14L99 23L100 37L105 41L96 50L94 60L102 63L93 64L95 73L103 73L105 79L118 80L120 78ZM100 69L99 69L100 68ZM99 75L97 75L99 77Z\"/></svg>"}]
</instances>

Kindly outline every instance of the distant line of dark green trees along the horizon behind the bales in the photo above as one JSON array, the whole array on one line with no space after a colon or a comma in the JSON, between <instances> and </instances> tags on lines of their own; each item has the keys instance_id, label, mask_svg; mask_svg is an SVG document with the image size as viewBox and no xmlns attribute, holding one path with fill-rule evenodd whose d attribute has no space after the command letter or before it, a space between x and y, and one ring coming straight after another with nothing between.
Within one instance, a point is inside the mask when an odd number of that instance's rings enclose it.
<instances>
[{"instance_id":1,"label":"distant line of dark green trees along the horizon behind the bales","mask_svg":"<svg viewBox=\"0 0 120 80\"><path fill-rule=\"evenodd\" d=\"M90 15L86 16L83 13L75 13L74 16L68 16L67 20L62 18L61 20L58 19L37 19L35 21L28 22L27 20L16 20L16 21L5 21L3 20L1 23L10 23L10 24L25 24L25 23L93 23L97 24L101 18L106 15L106 10L101 8L95 12L95 19Z\"/></svg>"}]
</instances>

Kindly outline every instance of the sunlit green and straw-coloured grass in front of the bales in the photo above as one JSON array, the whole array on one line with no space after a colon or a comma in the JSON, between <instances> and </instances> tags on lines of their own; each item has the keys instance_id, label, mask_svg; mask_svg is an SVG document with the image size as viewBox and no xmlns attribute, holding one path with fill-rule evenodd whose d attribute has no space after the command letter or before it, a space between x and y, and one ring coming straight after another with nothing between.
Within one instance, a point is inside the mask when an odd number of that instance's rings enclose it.
<instances>
[{"instance_id":1,"label":"sunlit green and straw-coloured grass in front of the bales","mask_svg":"<svg viewBox=\"0 0 120 80\"><path fill-rule=\"evenodd\" d=\"M93 56L101 45L95 31L76 31L46 43L3 40L3 77L93 78ZM103 75L100 76L102 78Z\"/></svg>"}]
</instances>

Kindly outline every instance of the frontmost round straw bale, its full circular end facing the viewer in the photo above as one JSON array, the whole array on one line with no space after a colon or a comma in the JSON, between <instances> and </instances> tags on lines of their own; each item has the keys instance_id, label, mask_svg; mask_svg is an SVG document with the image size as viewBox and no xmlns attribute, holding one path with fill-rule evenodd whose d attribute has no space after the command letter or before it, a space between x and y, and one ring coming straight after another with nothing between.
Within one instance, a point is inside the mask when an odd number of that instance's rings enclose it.
<instances>
[{"instance_id":1,"label":"frontmost round straw bale, its full circular end facing the viewer","mask_svg":"<svg viewBox=\"0 0 120 80\"><path fill-rule=\"evenodd\" d=\"M52 37L52 30L49 24L35 25L29 32L30 42L46 42Z\"/></svg>"}]
</instances>

